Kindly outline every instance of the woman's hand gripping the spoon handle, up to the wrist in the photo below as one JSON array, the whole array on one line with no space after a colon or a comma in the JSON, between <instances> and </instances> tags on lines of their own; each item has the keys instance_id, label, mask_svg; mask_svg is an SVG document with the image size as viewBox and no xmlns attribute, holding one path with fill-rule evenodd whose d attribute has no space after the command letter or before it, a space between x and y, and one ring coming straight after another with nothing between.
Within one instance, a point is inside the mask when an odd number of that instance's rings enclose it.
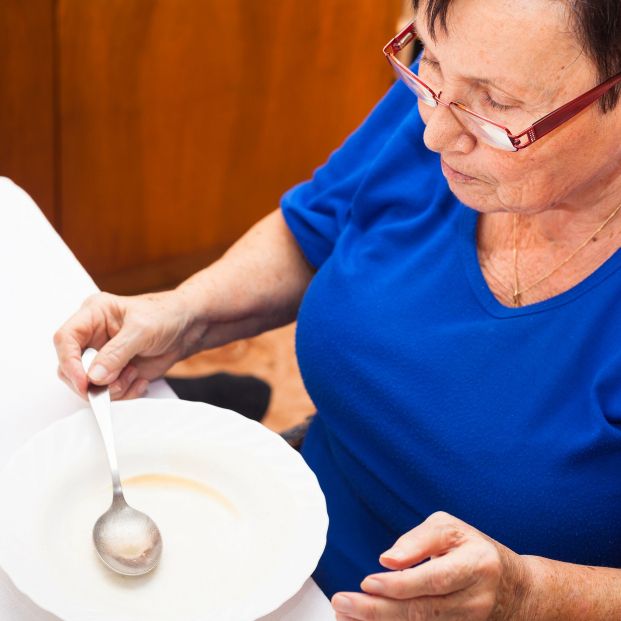
<instances>
[{"instance_id":1,"label":"woman's hand gripping the spoon handle, up to the wrist","mask_svg":"<svg viewBox=\"0 0 621 621\"><path fill-rule=\"evenodd\" d=\"M143 394L150 380L199 349L207 330L180 290L123 297L98 293L54 335L58 376L85 396L89 381L110 385L113 399ZM81 355L87 347L99 354L87 380Z\"/></svg>"}]
</instances>

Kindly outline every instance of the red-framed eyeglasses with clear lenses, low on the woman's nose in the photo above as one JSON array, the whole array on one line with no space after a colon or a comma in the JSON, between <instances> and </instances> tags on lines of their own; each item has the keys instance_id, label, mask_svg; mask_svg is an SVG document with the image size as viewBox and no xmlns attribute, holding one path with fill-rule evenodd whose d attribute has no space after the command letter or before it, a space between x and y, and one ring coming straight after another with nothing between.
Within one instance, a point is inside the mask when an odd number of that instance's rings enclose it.
<instances>
[{"instance_id":1,"label":"red-framed eyeglasses with clear lenses, low on the woman's nose","mask_svg":"<svg viewBox=\"0 0 621 621\"><path fill-rule=\"evenodd\" d=\"M436 108L438 105L449 108L457 120L477 138L486 144L502 149L503 151L519 151L533 144L546 134L556 129L576 114L597 101L602 95L608 92L613 86L621 82L621 73L609 78L602 84L592 88L590 91L572 99L569 103L557 108L546 116L540 118L530 127L520 132L512 134L503 125L499 125L457 101L444 102L440 99L442 91L435 93L432 88L427 86L416 74L408 69L396 57L401 50L416 40L416 28L414 22L408 24L386 47L384 54L388 62L394 67L399 77L405 82L408 88L418 97L420 101Z\"/></svg>"}]
</instances>

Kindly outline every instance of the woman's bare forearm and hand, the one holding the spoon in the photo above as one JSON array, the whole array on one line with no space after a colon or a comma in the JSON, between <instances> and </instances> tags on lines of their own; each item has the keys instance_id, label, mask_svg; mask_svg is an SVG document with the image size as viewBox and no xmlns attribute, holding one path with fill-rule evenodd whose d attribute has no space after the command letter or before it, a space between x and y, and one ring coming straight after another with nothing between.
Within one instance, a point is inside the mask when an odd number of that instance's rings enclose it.
<instances>
[{"instance_id":1,"label":"woman's bare forearm and hand, the one holding the spoon","mask_svg":"<svg viewBox=\"0 0 621 621\"><path fill-rule=\"evenodd\" d=\"M110 385L113 398L137 397L190 354L292 321L312 275L274 211L172 291L88 298L54 335L59 377L84 395L80 357L95 347L89 380Z\"/></svg>"}]
</instances>

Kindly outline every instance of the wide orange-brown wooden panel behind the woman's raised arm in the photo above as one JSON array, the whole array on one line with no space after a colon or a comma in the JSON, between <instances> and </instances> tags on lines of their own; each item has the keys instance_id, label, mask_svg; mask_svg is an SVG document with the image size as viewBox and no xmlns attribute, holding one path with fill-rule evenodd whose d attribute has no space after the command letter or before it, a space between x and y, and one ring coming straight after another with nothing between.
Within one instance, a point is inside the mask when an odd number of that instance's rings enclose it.
<instances>
[{"instance_id":1,"label":"wide orange-brown wooden panel behind the woman's raised arm","mask_svg":"<svg viewBox=\"0 0 621 621\"><path fill-rule=\"evenodd\" d=\"M63 237L119 291L187 275L311 174L389 86L401 8L58 3Z\"/></svg>"}]
</instances>

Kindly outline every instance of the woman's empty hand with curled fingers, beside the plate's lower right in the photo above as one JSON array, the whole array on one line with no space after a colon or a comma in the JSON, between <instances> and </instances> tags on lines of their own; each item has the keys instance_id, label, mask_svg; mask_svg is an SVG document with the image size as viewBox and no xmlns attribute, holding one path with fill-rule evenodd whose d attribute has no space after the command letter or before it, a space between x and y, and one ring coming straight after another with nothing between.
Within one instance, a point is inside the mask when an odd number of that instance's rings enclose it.
<instances>
[{"instance_id":1,"label":"woman's empty hand with curled fingers, beside the plate's lower right","mask_svg":"<svg viewBox=\"0 0 621 621\"><path fill-rule=\"evenodd\" d=\"M334 595L338 621L527 618L526 558L447 513L400 537L380 563L393 571L367 576L365 593Z\"/></svg>"}]
</instances>

